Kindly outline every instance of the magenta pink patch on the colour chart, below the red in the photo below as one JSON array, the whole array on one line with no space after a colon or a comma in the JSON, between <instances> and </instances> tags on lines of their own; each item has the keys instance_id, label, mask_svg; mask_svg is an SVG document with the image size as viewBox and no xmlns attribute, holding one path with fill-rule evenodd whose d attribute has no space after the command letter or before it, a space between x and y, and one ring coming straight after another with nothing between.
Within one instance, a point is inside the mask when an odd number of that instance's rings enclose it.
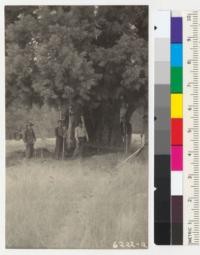
<instances>
[{"instance_id":1,"label":"magenta pink patch on the colour chart, below the red","mask_svg":"<svg viewBox=\"0 0 200 255\"><path fill-rule=\"evenodd\" d=\"M183 170L183 146L171 146L171 171Z\"/></svg>"}]
</instances>

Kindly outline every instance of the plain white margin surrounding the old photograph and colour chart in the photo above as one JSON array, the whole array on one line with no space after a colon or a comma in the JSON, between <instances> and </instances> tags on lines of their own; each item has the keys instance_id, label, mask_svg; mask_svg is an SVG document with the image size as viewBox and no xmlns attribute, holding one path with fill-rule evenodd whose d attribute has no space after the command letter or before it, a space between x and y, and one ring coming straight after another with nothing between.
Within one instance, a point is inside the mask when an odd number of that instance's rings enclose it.
<instances>
[{"instance_id":1,"label":"plain white margin surrounding the old photograph and colour chart","mask_svg":"<svg viewBox=\"0 0 200 255\"><path fill-rule=\"evenodd\" d=\"M4 57L4 6L5 5L149 5L149 241L147 250L6 250L5 247L5 57ZM1 0L0 3L0 255L7 254L150 254L150 255L187 255L188 253L200 254L200 247L188 246L156 246L153 243L153 144L154 144L154 55L153 55L153 24L152 13L155 10L191 10L200 9L199 0Z\"/></svg>"}]
</instances>

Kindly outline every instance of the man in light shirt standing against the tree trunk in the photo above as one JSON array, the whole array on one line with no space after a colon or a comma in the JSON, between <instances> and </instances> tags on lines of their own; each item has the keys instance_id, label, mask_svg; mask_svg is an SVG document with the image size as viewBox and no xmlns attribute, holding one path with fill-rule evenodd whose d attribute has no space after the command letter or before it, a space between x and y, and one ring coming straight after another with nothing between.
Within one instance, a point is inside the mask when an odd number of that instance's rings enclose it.
<instances>
[{"instance_id":1,"label":"man in light shirt standing against the tree trunk","mask_svg":"<svg viewBox=\"0 0 200 255\"><path fill-rule=\"evenodd\" d=\"M75 128L75 140L76 140L76 148L74 151L74 156L78 156L78 155L83 156L85 144L86 142L89 141L83 116L81 116L81 120L78 122L78 125Z\"/></svg>"}]
</instances>

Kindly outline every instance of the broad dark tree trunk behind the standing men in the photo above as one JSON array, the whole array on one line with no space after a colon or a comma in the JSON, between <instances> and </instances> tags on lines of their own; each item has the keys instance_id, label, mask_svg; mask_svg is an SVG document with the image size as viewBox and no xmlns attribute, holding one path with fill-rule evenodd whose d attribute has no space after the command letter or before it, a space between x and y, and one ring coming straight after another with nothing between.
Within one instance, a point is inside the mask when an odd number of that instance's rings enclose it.
<instances>
[{"instance_id":1,"label":"broad dark tree trunk behind the standing men","mask_svg":"<svg viewBox=\"0 0 200 255\"><path fill-rule=\"evenodd\" d=\"M67 148L75 146L74 130L80 116L83 115L86 129L91 144L99 146L122 147L120 130L119 102L103 102L98 108L91 109L89 106L74 109L73 114L67 111Z\"/></svg>"}]
</instances>

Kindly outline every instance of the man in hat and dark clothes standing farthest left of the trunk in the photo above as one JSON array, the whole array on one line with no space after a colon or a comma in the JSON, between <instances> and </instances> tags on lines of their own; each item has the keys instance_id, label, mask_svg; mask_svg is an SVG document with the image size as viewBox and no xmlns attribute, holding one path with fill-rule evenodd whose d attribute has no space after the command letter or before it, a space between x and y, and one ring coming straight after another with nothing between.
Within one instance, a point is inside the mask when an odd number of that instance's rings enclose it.
<instances>
[{"instance_id":1,"label":"man in hat and dark clothes standing farthest left of the trunk","mask_svg":"<svg viewBox=\"0 0 200 255\"><path fill-rule=\"evenodd\" d=\"M34 143L36 142L35 132L32 128L33 123L29 122L23 134L23 140L26 144L26 158L32 158L34 152Z\"/></svg>"}]
</instances>

